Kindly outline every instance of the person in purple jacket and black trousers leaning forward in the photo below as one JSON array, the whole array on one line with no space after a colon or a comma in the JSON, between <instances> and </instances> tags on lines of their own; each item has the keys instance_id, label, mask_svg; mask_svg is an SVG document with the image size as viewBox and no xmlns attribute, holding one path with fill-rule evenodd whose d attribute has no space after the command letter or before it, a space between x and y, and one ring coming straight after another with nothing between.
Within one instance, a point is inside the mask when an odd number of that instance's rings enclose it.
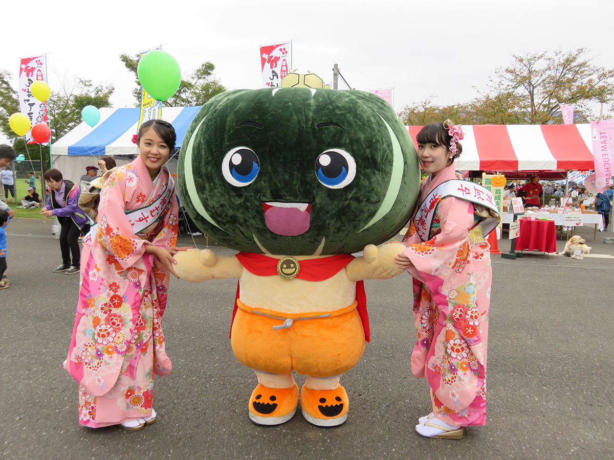
<instances>
[{"instance_id":1,"label":"person in purple jacket and black trousers leaning forward","mask_svg":"<svg viewBox=\"0 0 614 460\"><path fill-rule=\"evenodd\" d=\"M66 272L67 274L79 273L81 253L79 248L79 234L88 218L79 207L79 186L62 178L62 173L57 169L45 172L45 180L49 185L47 204L41 209L45 217L57 217L60 221L60 250L62 251L62 263L54 272ZM72 253L72 263L71 263Z\"/></svg>"}]
</instances>

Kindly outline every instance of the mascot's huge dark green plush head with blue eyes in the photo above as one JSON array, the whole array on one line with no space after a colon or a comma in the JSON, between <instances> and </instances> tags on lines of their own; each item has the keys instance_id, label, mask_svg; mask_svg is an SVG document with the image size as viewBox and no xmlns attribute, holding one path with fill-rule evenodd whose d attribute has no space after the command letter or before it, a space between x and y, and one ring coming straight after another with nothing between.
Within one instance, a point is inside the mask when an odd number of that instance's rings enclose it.
<instances>
[{"instance_id":1,"label":"mascot's huge dark green plush head with blue eyes","mask_svg":"<svg viewBox=\"0 0 614 460\"><path fill-rule=\"evenodd\" d=\"M397 234L419 190L410 136L364 91L265 88L218 94L179 156L185 207L236 250L333 255Z\"/></svg>"}]
</instances>

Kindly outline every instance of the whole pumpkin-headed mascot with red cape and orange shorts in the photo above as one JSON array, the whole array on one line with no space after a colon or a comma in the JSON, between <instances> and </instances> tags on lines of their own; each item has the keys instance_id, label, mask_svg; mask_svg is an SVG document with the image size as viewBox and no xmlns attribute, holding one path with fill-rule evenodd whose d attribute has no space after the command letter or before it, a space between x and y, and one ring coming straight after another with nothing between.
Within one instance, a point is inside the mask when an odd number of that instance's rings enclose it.
<instances>
[{"instance_id":1,"label":"whole pumpkin-headed mascot with red cape and orange shorts","mask_svg":"<svg viewBox=\"0 0 614 460\"><path fill-rule=\"evenodd\" d=\"M420 185L392 107L363 91L314 88L316 79L300 75L297 84L311 88L218 94L192 121L179 158L190 217L240 252L188 250L175 270L190 282L238 278L231 345L258 378L249 418L263 425L290 420L299 393L310 423L348 417L340 378L365 350L363 280L402 272L394 257L405 246L375 245L403 228ZM300 390L293 372L307 376Z\"/></svg>"}]
</instances>

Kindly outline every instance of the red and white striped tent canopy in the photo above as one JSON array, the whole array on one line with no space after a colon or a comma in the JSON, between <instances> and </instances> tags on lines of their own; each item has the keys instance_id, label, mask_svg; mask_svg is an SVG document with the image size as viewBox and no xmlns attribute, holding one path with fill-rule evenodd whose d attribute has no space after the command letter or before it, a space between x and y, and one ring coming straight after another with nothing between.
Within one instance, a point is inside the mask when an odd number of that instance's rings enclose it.
<instances>
[{"instance_id":1,"label":"red and white striped tent canopy","mask_svg":"<svg viewBox=\"0 0 614 460\"><path fill-rule=\"evenodd\" d=\"M408 126L416 144L422 126ZM594 169L591 125L463 125L461 171Z\"/></svg>"}]
</instances>

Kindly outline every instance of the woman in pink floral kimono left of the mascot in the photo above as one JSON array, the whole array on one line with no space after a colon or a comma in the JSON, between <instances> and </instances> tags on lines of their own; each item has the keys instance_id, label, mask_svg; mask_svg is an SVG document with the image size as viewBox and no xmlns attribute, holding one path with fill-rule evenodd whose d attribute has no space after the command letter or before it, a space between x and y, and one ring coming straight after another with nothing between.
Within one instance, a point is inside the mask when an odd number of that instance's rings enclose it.
<instances>
[{"instance_id":1,"label":"woman in pink floral kimono left of the mascot","mask_svg":"<svg viewBox=\"0 0 614 460\"><path fill-rule=\"evenodd\" d=\"M160 321L179 251L174 183L163 167L175 139L166 121L141 126L139 156L106 180L84 240L64 369L79 382L79 423L91 428L153 423L153 374L171 372Z\"/></svg>"}]
</instances>

